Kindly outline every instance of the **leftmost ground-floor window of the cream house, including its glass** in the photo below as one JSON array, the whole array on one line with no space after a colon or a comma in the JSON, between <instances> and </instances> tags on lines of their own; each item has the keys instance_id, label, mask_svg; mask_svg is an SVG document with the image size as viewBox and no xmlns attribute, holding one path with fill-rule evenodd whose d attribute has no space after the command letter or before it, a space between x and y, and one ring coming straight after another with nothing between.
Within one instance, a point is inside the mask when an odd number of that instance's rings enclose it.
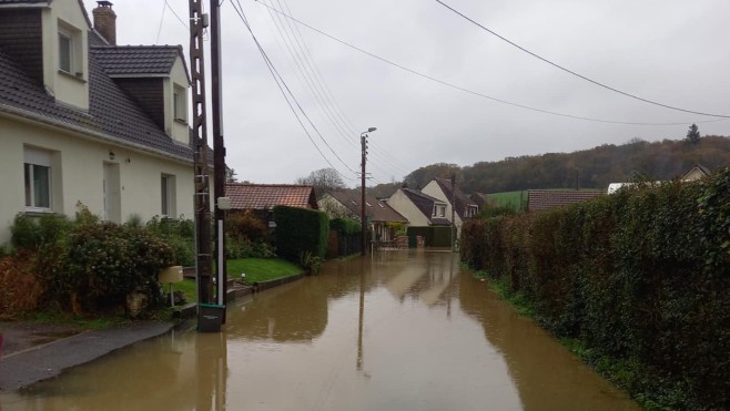
<instances>
[{"instance_id":1,"label":"leftmost ground-floor window of the cream house, including its glass","mask_svg":"<svg viewBox=\"0 0 730 411\"><path fill-rule=\"evenodd\" d=\"M51 209L51 153L26 148L23 175L26 179L26 208L29 210Z\"/></svg>"}]
</instances>

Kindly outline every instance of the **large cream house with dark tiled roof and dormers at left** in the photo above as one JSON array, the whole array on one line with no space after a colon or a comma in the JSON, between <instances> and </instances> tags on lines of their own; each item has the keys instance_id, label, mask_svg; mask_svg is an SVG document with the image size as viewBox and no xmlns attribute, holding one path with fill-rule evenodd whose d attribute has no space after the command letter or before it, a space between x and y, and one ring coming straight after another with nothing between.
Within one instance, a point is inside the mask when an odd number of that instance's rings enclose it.
<instances>
[{"instance_id":1,"label":"large cream house with dark tiled roof and dormers at left","mask_svg":"<svg viewBox=\"0 0 730 411\"><path fill-rule=\"evenodd\" d=\"M19 213L193 214L180 47L115 45L99 1L0 0L0 244Z\"/></svg>"}]
</instances>

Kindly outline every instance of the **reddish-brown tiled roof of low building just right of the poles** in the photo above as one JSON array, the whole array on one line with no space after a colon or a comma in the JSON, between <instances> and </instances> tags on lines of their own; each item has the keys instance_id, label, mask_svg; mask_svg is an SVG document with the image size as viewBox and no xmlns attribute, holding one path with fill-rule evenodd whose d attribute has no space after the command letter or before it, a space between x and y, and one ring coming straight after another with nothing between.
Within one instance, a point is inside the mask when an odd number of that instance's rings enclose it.
<instances>
[{"instance_id":1,"label":"reddish-brown tiled roof of low building just right of the poles","mask_svg":"<svg viewBox=\"0 0 730 411\"><path fill-rule=\"evenodd\" d=\"M225 195L233 209L270 209L280 205L320 208L311 185L227 183Z\"/></svg>"}]
</instances>

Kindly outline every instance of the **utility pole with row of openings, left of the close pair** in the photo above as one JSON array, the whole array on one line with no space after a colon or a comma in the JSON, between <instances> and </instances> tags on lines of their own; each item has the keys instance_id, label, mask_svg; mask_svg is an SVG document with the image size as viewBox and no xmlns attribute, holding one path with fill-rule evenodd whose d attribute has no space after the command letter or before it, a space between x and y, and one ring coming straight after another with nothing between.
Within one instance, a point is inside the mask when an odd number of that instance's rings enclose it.
<instances>
[{"instance_id":1,"label":"utility pole with row of openings, left of the close pair","mask_svg":"<svg viewBox=\"0 0 730 411\"><path fill-rule=\"evenodd\" d=\"M193 92L193 160L195 178L195 268L197 301L213 299L211 281L211 192L205 120L204 16L201 0L190 0L190 73ZM200 314L200 309L199 309Z\"/></svg>"}]
</instances>

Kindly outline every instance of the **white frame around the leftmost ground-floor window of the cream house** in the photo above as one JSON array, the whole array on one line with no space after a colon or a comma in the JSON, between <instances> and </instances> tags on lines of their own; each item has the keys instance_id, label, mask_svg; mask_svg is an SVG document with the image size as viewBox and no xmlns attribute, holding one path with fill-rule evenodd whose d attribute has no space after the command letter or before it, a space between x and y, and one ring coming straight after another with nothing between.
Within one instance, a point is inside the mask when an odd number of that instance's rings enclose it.
<instances>
[{"instance_id":1,"label":"white frame around the leftmost ground-floor window of the cream house","mask_svg":"<svg viewBox=\"0 0 730 411\"><path fill-rule=\"evenodd\" d=\"M53 168L51 167L51 152L26 147L23 150L23 187L26 191L26 210L31 213L50 213L53 209ZM47 174L48 204L39 205L37 173L43 171Z\"/></svg>"}]
</instances>

